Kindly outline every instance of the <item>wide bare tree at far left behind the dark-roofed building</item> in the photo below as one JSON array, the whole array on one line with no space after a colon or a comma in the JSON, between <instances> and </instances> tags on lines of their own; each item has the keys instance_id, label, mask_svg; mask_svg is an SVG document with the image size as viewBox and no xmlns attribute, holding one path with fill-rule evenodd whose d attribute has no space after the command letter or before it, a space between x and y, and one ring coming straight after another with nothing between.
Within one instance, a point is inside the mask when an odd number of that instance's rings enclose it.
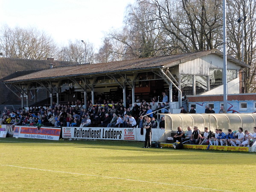
<instances>
[{"instance_id":1,"label":"wide bare tree at far left behind the dark-roofed building","mask_svg":"<svg viewBox=\"0 0 256 192\"><path fill-rule=\"evenodd\" d=\"M58 47L43 31L4 25L0 31L0 51L4 57L46 59L55 57Z\"/></svg>"}]
</instances>

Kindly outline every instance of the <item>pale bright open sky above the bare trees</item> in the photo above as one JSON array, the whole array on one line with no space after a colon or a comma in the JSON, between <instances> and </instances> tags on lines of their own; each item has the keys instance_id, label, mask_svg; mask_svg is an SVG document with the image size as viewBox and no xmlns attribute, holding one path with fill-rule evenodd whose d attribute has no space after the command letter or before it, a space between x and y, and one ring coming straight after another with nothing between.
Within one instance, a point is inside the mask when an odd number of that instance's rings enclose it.
<instances>
[{"instance_id":1,"label":"pale bright open sky above the bare trees","mask_svg":"<svg viewBox=\"0 0 256 192\"><path fill-rule=\"evenodd\" d=\"M98 49L110 29L119 29L135 0L0 0L0 28L35 27L60 46L84 40Z\"/></svg>"}]
</instances>

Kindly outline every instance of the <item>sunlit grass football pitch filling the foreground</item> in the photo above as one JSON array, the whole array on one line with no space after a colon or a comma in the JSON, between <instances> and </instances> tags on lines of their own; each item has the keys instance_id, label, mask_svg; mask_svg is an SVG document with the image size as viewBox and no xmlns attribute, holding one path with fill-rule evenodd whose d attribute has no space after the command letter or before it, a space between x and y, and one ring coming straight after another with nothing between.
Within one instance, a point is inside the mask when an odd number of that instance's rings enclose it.
<instances>
[{"instance_id":1,"label":"sunlit grass football pitch filling the foreground","mask_svg":"<svg viewBox=\"0 0 256 192\"><path fill-rule=\"evenodd\" d=\"M0 138L0 191L255 191L254 153Z\"/></svg>"}]
</instances>

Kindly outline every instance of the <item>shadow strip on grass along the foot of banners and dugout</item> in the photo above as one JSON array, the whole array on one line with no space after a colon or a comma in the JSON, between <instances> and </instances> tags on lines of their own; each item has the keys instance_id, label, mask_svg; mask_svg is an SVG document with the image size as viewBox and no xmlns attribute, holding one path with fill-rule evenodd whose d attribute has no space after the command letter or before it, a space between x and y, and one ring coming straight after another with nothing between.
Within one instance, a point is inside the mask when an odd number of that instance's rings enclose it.
<instances>
[{"instance_id":1,"label":"shadow strip on grass along the foot of banners and dugout","mask_svg":"<svg viewBox=\"0 0 256 192\"><path fill-rule=\"evenodd\" d=\"M124 140L39 140L39 139L27 139L27 138L18 138L15 139L14 137L7 137L7 138L0 138L0 143L13 143L18 144L22 143L23 146L30 146L32 143L45 143L46 146L51 145L61 145L63 146L74 146L75 148L101 148L101 149L109 149L109 150L126 150L126 151L142 151L147 153L163 153L167 152L170 155L174 153L176 156L178 154L183 155L182 159L186 159L184 153L189 153L190 157L194 155L196 152L197 155L210 155L213 154L246 154L246 155L255 155L256 153L248 153L248 152L241 152L241 151L207 151L207 150L196 150L196 149L182 149L176 150L174 148L143 148L144 142L142 141L124 141ZM195 159L194 157L193 159ZM232 157L231 157L232 158ZM189 159L189 158L188 158ZM200 157L198 158L200 159Z\"/></svg>"}]
</instances>

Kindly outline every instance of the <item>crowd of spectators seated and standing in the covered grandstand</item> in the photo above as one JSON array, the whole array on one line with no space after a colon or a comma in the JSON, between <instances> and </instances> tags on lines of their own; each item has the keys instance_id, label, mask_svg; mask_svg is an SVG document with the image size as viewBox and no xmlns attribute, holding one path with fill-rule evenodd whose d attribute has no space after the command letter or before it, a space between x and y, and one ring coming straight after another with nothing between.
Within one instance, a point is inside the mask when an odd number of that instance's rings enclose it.
<instances>
[{"instance_id":1,"label":"crowd of spectators seated and standing in the covered grandstand","mask_svg":"<svg viewBox=\"0 0 256 192\"><path fill-rule=\"evenodd\" d=\"M140 117L150 116L152 128L157 128L155 120L156 112L168 113L169 102L158 102L158 96L152 96L150 102L140 99L137 96L136 103L131 103L131 94L126 100L126 107L122 100L114 103L111 100L102 99L99 96L96 104L93 105L91 100L85 106L83 100L76 102L67 102L66 105L40 106L30 108L20 108L16 111L4 109L3 115L0 116L0 124L9 125L36 125L36 126L55 126L55 127L140 127ZM160 98L166 99L166 93L162 93ZM166 109L167 107L167 109ZM162 109L162 110L160 110ZM143 119L143 123L146 120ZM163 126L162 126L163 127Z\"/></svg>"}]
</instances>

